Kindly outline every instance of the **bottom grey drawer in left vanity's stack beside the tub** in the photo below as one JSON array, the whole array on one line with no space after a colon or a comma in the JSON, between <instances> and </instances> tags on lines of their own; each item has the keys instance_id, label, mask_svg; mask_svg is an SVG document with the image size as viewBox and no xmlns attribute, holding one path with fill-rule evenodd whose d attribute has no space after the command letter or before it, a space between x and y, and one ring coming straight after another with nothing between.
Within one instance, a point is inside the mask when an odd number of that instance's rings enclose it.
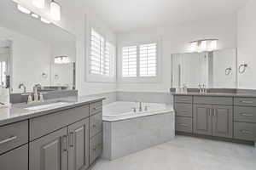
<instances>
[{"instance_id":1,"label":"bottom grey drawer in left vanity's stack beside the tub","mask_svg":"<svg viewBox=\"0 0 256 170\"><path fill-rule=\"evenodd\" d=\"M102 133L90 139L90 164L102 155Z\"/></svg>"}]
</instances>

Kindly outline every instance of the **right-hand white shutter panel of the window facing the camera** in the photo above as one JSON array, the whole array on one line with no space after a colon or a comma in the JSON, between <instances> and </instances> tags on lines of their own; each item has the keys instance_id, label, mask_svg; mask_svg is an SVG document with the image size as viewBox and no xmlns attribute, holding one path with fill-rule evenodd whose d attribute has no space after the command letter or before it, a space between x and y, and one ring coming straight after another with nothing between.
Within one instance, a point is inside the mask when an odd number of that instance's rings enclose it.
<instances>
[{"instance_id":1,"label":"right-hand white shutter panel of the window facing the camera","mask_svg":"<svg viewBox=\"0 0 256 170\"><path fill-rule=\"evenodd\" d=\"M149 43L139 46L140 77L156 77L157 44Z\"/></svg>"}]
</instances>

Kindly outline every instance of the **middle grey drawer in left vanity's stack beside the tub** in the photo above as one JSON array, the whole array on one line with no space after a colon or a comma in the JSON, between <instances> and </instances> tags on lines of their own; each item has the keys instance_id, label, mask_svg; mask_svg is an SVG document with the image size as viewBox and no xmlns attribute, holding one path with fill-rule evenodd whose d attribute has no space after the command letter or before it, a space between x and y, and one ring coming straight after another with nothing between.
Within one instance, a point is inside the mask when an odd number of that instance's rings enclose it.
<instances>
[{"instance_id":1,"label":"middle grey drawer in left vanity's stack beside the tub","mask_svg":"<svg viewBox=\"0 0 256 170\"><path fill-rule=\"evenodd\" d=\"M90 138L102 132L102 112L90 116Z\"/></svg>"}]
</instances>

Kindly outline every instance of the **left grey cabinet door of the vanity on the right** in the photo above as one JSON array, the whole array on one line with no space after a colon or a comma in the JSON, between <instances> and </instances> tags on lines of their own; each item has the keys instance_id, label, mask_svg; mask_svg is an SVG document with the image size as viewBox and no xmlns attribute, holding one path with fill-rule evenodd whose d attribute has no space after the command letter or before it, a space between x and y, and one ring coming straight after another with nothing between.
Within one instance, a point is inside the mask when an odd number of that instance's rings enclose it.
<instances>
[{"instance_id":1,"label":"left grey cabinet door of the vanity on the right","mask_svg":"<svg viewBox=\"0 0 256 170\"><path fill-rule=\"evenodd\" d=\"M194 105L193 132L212 135L212 105Z\"/></svg>"}]
</instances>

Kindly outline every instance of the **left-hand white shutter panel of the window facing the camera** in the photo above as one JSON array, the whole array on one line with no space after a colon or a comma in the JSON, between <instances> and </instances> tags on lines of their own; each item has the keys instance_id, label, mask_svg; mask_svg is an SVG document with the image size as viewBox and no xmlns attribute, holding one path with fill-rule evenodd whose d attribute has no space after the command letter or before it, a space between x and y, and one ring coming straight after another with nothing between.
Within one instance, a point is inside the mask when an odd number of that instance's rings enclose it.
<instances>
[{"instance_id":1,"label":"left-hand white shutter panel of the window facing the camera","mask_svg":"<svg viewBox=\"0 0 256 170\"><path fill-rule=\"evenodd\" d=\"M123 77L137 77L137 46L122 48Z\"/></svg>"}]
</instances>

